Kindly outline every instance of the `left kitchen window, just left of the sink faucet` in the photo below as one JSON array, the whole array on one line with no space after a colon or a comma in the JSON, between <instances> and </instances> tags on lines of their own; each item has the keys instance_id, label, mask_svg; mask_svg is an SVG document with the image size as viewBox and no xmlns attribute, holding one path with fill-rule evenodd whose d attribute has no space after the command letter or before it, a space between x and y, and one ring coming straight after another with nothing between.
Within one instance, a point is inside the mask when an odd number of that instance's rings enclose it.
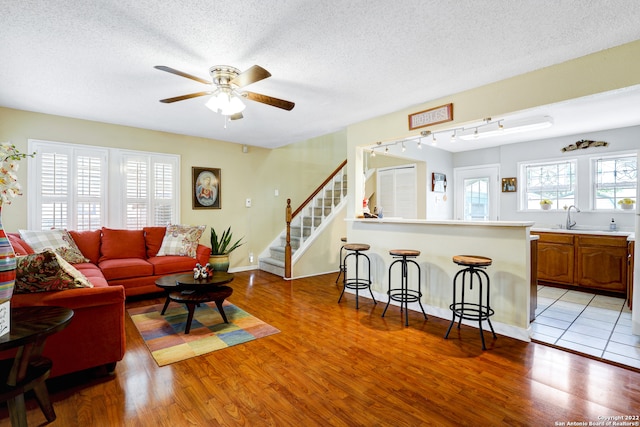
<instances>
[{"instance_id":1,"label":"left kitchen window, just left of the sink faucet","mask_svg":"<svg viewBox=\"0 0 640 427\"><path fill-rule=\"evenodd\" d=\"M550 200L552 209L575 205L576 161L521 164L520 182L524 183L521 208L542 209L540 202Z\"/></svg>"}]
</instances>

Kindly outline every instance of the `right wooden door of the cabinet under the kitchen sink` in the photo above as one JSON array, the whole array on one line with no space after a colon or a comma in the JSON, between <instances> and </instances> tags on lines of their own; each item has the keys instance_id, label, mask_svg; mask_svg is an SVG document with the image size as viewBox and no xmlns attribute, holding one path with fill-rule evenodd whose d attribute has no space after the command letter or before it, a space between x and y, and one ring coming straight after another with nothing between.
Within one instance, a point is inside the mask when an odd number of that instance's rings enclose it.
<instances>
[{"instance_id":1,"label":"right wooden door of the cabinet under the kitchen sink","mask_svg":"<svg viewBox=\"0 0 640 427\"><path fill-rule=\"evenodd\" d=\"M626 294L626 237L579 235L575 245L578 286Z\"/></svg>"}]
</instances>

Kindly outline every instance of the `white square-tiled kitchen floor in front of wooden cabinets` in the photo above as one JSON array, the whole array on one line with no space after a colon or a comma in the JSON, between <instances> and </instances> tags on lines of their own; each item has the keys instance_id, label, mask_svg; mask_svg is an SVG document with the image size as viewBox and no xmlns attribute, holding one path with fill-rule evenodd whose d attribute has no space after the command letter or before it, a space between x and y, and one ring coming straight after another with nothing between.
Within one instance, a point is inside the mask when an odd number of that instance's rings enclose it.
<instances>
[{"instance_id":1,"label":"white square-tiled kitchen floor in front of wooden cabinets","mask_svg":"<svg viewBox=\"0 0 640 427\"><path fill-rule=\"evenodd\" d=\"M631 334L624 298L538 286L532 339L640 369L640 336Z\"/></svg>"}]
</instances>

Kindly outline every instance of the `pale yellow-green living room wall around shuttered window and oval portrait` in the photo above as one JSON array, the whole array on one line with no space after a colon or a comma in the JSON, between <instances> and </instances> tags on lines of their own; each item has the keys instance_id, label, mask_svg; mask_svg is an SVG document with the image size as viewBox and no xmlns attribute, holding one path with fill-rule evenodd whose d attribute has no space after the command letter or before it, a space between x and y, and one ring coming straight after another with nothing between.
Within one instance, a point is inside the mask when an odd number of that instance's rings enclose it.
<instances>
[{"instance_id":1,"label":"pale yellow-green living room wall around shuttered window and oval portrait","mask_svg":"<svg viewBox=\"0 0 640 427\"><path fill-rule=\"evenodd\" d=\"M295 208L346 158L345 132L274 150L250 146L245 154L240 144L0 108L0 141L11 141L26 151L28 139L179 154L180 222L207 225L202 238L207 245L210 226L217 230L231 226L234 237L244 236L246 244L231 254L232 269L248 267L249 252L256 263L260 252L284 229L288 197ZM221 169L222 209L192 209L193 166ZM26 161L18 179L26 190ZM245 207L246 198L252 199L251 208ZM26 197L14 199L2 211L6 230L27 227Z\"/></svg>"}]
</instances>

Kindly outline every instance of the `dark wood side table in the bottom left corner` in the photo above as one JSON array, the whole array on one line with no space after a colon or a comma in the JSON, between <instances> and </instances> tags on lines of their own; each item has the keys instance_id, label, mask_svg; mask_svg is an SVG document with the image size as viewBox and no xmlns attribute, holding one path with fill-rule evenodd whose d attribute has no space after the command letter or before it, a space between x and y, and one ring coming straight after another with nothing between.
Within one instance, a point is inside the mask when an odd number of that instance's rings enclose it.
<instances>
[{"instance_id":1,"label":"dark wood side table in the bottom left corner","mask_svg":"<svg viewBox=\"0 0 640 427\"><path fill-rule=\"evenodd\" d=\"M24 393L29 390L47 421L56 419L45 384L52 364L42 350L47 337L64 329L72 317L73 310L63 307L11 309L11 329L0 337L0 351L16 348L17 352L13 360L0 361L0 400L7 401L12 426L27 426Z\"/></svg>"}]
</instances>

